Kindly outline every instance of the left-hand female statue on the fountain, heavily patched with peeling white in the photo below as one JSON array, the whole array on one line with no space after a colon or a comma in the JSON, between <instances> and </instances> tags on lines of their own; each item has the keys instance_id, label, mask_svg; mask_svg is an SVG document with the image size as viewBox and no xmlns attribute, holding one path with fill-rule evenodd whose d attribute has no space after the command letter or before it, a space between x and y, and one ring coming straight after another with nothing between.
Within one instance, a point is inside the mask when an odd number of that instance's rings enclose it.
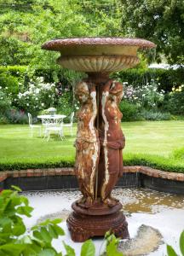
<instances>
[{"instance_id":1,"label":"left-hand female statue on the fountain, heavily patched with peeling white","mask_svg":"<svg viewBox=\"0 0 184 256\"><path fill-rule=\"evenodd\" d=\"M99 161L99 138L95 129L97 115L95 85L87 84L84 81L80 82L76 85L75 93L81 103L75 142L75 174L83 194L83 198L78 201L78 204L88 208L95 200L95 177Z\"/></svg>"}]
</instances>

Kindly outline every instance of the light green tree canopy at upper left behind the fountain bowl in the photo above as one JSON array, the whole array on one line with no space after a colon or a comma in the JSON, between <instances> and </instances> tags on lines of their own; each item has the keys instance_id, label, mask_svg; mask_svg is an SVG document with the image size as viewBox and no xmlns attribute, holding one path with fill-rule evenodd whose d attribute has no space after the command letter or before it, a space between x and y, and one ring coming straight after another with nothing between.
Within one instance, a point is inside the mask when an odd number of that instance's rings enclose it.
<instances>
[{"instance_id":1,"label":"light green tree canopy at upper left behind the fountain bowl","mask_svg":"<svg viewBox=\"0 0 184 256\"><path fill-rule=\"evenodd\" d=\"M118 2L120 3L120 2ZM0 65L55 67L53 38L121 36L115 0L0 0Z\"/></svg>"}]
</instances>

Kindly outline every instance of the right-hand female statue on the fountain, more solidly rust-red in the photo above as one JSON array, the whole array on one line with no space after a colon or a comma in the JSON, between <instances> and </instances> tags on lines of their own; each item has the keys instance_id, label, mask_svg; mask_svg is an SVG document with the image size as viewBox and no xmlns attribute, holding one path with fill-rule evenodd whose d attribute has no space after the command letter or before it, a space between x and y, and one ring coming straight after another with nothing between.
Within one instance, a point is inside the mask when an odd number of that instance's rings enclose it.
<instances>
[{"instance_id":1,"label":"right-hand female statue on the fountain, more solidly rust-red","mask_svg":"<svg viewBox=\"0 0 184 256\"><path fill-rule=\"evenodd\" d=\"M121 130L122 113L118 104L123 96L123 84L108 80L101 90L101 156L99 163L99 196L109 207L117 200L111 197L113 187L123 173L122 149L125 138Z\"/></svg>"}]
</instances>

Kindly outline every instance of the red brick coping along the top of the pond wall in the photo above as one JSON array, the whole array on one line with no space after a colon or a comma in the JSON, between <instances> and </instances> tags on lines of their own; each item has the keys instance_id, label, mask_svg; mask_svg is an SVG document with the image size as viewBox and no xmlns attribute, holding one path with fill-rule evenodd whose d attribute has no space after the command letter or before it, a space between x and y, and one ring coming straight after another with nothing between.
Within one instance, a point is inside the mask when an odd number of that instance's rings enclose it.
<instances>
[{"instance_id":1,"label":"red brick coping along the top of the pond wall","mask_svg":"<svg viewBox=\"0 0 184 256\"><path fill-rule=\"evenodd\" d=\"M147 166L124 166L124 172L141 172L151 177L161 177L176 181L184 181L184 173L164 172ZM70 168L48 168L48 169L27 169L20 171L0 172L0 182L7 177L42 177L74 175L73 167Z\"/></svg>"}]
</instances>

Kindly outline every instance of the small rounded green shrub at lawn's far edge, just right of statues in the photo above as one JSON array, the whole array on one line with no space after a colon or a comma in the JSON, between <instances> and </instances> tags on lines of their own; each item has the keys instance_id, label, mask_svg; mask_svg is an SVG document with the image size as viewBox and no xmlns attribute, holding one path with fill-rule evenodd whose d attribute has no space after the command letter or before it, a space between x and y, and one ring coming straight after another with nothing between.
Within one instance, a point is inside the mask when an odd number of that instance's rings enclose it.
<instances>
[{"instance_id":1,"label":"small rounded green shrub at lawn's far edge, just right of statues","mask_svg":"<svg viewBox=\"0 0 184 256\"><path fill-rule=\"evenodd\" d=\"M135 104L123 100L119 104L119 109L123 113L124 122L140 119L139 108Z\"/></svg>"}]
</instances>

